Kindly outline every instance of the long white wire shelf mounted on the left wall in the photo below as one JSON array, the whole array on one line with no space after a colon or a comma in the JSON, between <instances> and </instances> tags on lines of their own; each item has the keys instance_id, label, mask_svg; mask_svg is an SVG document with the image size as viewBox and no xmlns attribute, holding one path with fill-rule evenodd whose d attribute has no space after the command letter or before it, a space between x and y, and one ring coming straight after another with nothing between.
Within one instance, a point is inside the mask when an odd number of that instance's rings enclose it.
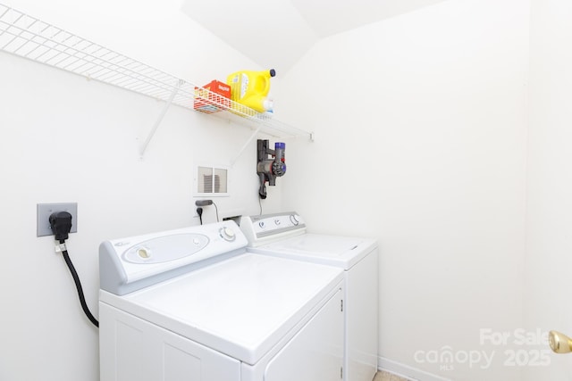
<instances>
[{"instance_id":1,"label":"long white wire shelf mounted on the left wall","mask_svg":"<svg viewBox=\"0 0 572 381\"><path fill-rule=\"evenodd\" d=\"M4 4L0 4L0 50L189 110L194 110L196 102L206 102L221 111L214 115L257 127L274 137L312 137L309 132L293 128L270 115Z\"/></svg>"}]
</instances>

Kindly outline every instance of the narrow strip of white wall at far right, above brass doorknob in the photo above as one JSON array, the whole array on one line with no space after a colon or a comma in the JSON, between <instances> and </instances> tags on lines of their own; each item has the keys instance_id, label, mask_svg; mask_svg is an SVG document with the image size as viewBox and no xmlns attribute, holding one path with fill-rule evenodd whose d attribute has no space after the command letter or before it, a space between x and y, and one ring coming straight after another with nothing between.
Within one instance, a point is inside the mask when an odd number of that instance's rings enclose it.
<instances>
[{"instance_id":1,"label":"narrow strip of white wall at far right, above brass doorknob","mask_svg":"<svg viewBox=\"0 0 572 381\"><path fill-rule=\"evenodd\" d=\"M526 324L572 335L572 4L533 0L532 11ZM572 356L527 370L526 380L572 380Z\"/></svg>"}]
</instances>

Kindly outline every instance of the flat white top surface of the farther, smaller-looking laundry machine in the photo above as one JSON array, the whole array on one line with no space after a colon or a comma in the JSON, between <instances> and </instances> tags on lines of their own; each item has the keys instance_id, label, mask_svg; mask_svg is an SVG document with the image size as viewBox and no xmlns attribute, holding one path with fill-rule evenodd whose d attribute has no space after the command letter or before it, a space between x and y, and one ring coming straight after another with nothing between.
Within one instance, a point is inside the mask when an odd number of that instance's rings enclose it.
<instances>
[{"instance_id":1,"label":"flat white top surface of the farther, smaller-looking laundry machine","mask_svg":"<svg viewBox=\"0 0 572 381\"><path fill-rule=\"evenodd\" d=\"M370 253L377 244L374 239L349 236L325 236L303 234L293 236L273 244L264 244L249 248L253 253L273 253L284 258L296 258L303 261L350 269Z\"/></svg>"}]
</instances>

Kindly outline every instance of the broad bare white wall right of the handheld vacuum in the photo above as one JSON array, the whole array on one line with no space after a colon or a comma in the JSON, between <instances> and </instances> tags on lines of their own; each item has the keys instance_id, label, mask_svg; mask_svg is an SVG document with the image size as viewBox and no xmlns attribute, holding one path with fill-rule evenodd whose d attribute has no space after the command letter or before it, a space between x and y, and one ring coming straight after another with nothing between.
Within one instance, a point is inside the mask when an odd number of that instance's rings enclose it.
<instances>
[{"instance_id":1,"label":"broad bare white wall right of the handheld vacuum","mask_svg":"<svg viewBox=\"0 0 572 381\"><path fill-rule=\"evenodd\" d=\"M287 150L285 207L379 240L382 365L520 376L480 332L523 324L528 18L522 0L435 4L325 39L282 82L316 136Z\"/></svg>"}]
</instances>

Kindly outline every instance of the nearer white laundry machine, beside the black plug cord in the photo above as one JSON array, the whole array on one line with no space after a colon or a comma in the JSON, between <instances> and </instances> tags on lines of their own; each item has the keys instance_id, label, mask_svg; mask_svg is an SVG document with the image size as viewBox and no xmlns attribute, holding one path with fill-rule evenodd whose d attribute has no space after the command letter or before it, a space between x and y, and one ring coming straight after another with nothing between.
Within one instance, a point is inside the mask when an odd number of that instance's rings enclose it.
<instances>
[{"instance_id":1,"label":"nearer white laundry machine, beside the black plug cord","mask_svg":"<svg viewBox=\"0 0 572 381\"><path fill-rule=\"evenodd\" d=\"M341 380L341 269L246 245L233 221L101 244L100 379Z\"/></svg>"}]
</instances>

